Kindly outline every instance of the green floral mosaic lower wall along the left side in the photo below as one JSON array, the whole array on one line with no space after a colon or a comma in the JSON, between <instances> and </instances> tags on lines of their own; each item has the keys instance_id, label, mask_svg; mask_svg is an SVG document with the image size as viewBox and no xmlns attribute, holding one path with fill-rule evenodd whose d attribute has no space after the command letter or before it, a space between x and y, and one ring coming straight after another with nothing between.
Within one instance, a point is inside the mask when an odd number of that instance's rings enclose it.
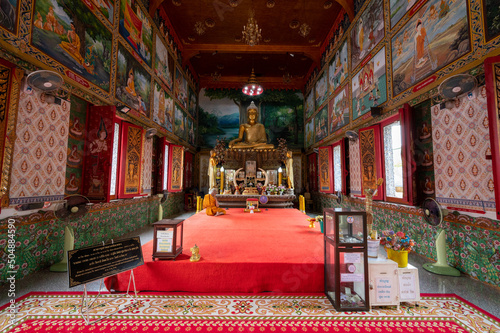
<instances>
[{"instance_id":1,"label":"green floral mosaic lower wall along the left side","mask_svg":"<svg viewBox=\"0 0 500 333\"><path fill-rule=\"evenodd\" d=\"M75 231L75 248L120 238L122 235L158 221L157 197L120 200L92 206L83 219L68 222ZM162 204L164 218L180 213L184 194L168 194ZM64 227L52 211L15 217L16 279L59 262L63 255ZM7 278L8 218L0 220L0 284Z\"/></svg>"}]
</instances>

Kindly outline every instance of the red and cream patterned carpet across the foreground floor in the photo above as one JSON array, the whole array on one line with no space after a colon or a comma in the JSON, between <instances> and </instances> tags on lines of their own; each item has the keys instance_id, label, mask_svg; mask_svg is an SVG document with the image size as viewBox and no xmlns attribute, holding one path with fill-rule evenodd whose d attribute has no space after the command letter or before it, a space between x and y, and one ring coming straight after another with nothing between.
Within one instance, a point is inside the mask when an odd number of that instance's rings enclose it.
<instances>
[{"instance_id":1,"label":"red and cream patterned carpet across the foreground floor","mask_svg":"<svg viewBox=\"0 0 500 333\"><path fill-rule=\"evenodd\" d=\"M91 293L95 296L95 293ZM186 295L144 293L132 300L104 294L89 315L80 315L82 293L32 292L0 307L0 332L351 332L490 333L498 318L453 294L422 294L418 306L374 307L370 312L337 312L324 295ZM106 315L111 314L110 317Z\"/></svg>"}]
</instances>

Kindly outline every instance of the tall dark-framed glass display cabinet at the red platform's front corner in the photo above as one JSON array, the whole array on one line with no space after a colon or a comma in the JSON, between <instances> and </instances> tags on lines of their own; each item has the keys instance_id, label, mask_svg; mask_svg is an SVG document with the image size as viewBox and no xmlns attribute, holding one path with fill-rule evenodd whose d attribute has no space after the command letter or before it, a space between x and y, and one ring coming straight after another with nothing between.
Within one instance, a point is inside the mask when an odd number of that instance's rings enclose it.
<instances>
[{"instance_id":1,"label":"tall dark-framed glass display cabinet at the red platform's front corner","mask_svg":"<svg viewBox=\"0 0 500 333\"><path fill-rule=\"evenodd\" d=\"M323 211L325 294L337 311L369 309L366 212Z\"/></svg>"}]
</instances>

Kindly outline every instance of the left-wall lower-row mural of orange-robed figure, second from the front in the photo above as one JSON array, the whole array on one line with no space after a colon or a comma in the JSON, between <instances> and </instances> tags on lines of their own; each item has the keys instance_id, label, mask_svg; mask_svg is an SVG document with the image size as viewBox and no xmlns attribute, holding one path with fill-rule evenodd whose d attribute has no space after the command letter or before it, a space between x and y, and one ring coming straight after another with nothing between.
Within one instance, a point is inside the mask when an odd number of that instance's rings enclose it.
<instances>
[{"instance_id":1,"label":"left-wall lower-row mural of orange-robed figure, second from the front","mask_svg":"<svg viewBox=\"0 0 500 333\"><path fill-rule=\"evenodd\" d=\"M151 75L118 43L116 97L149 118Z\"/></svg>"}]
</instances>

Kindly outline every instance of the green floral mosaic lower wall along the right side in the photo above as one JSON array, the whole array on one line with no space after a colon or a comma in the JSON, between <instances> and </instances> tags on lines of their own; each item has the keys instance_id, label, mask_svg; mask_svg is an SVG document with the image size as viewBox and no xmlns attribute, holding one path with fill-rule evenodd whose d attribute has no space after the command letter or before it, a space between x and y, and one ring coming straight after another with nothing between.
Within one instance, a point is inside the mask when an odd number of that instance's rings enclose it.
<instances>
[{"instance_id":1,"label":"green floral mosaic lower wall along the right side","mask_svg":"<svg viewBox=\"0 0 500 333\"><path fill-rule=\"evenodd\" d=\"M323 208L352 208L365 210L362 199L347 198L339 205L332 195L313 194L316 211ZM373 228L403 231L417 245L415 253L435 260L434 240L438 229L429 226L419 208L385 202L373 203ZM448 262L461 272L488 284L500 287L500 221L448 214L442 224L446 230Z\"/></svg>"}]
</instances>

